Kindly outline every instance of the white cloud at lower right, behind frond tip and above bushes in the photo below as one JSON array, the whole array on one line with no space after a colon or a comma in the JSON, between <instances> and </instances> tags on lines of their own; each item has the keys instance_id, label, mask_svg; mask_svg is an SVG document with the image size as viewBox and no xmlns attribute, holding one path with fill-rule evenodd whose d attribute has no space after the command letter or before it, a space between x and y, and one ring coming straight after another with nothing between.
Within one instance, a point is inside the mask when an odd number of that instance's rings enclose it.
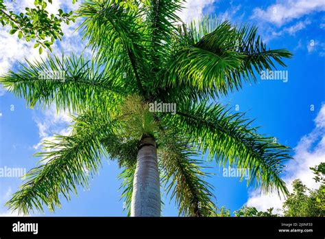
<instances>
[{"instance_id":1,"label":"white cloud at lower right, behind frond tip and above bushes","mask_svg":"<svg viewBox=\"0 0 325 239\"><path fill-rule=\"evenodd\" d=\"M287 163L287 172L283 177L288 190L292 192L291 183L294 179L300 179L309 188L319 187L319 183L313 180L313 172L310 167L317 166L325 161L325 104L315 119L315 128L309 135L302 137L294 148L294 160ZM257 190L249 193L247 205L265 211L269 207L282 208L283 198L278 194L261 195Z\"/></svg>"}]
</instances>

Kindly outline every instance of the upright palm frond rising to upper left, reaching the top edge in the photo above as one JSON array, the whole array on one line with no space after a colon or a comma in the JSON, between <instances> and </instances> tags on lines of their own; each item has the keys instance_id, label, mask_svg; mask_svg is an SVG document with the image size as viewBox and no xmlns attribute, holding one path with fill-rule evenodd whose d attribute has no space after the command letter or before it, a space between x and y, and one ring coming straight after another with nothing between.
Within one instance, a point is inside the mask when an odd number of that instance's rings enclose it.
<instances>
[{"instance_id":1,"label":"upright palm frond rising to upper left, reaching the top edge","mask_svg":"<svg viewBox=\"0 0 325 239\"><path fill-rule=\"evenodd\" d=\"M127 12L115 0L90 1L81 5L79 14L85 18L80 25L84 39L97 50L97 57L102 62L114 60L125 82L144 94L149 68L141 8Z\"/></svg>"}]
</instances>

